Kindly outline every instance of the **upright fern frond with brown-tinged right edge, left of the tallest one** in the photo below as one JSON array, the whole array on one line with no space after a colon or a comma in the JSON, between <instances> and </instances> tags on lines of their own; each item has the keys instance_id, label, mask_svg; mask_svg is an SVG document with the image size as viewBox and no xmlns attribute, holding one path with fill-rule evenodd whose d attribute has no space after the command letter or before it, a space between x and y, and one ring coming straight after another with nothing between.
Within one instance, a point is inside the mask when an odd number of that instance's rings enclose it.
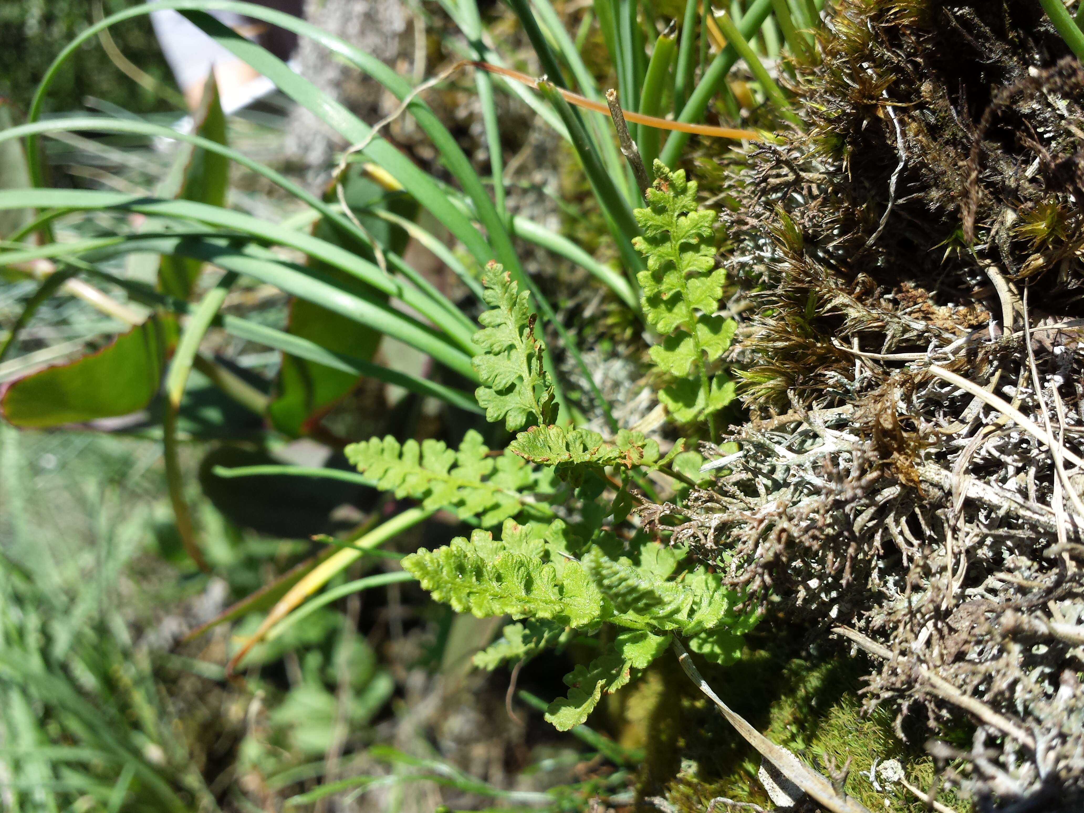
<instances>
[{"instance_id":1,"label":"upright fern frond with brown-tinged right edge, left of the tallest one","mask_svg":"<svg viewBox=\"0 0 1084 813\"><path fill-rule=\"evenodd\" d=\"M482 348L470 362L482 383L475 390L478 405L490 423L503 418L508 431L530 422L553 423L554 388L542 367L545 346L534 337L530 295L518 293L512 275L495 262L486 267L482 284L482 299L491 310L479 317L483 328L474 335Z\"/></svg>"}]
</instances>

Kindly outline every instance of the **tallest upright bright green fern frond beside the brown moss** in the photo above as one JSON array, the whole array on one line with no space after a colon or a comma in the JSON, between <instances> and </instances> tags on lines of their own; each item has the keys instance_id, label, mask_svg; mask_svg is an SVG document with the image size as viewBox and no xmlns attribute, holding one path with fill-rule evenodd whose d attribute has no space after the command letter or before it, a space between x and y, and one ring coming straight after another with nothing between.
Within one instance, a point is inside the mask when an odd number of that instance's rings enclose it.
<instances>
[{"instance_id":1,"label":"tallest upright bright green fern frond beside the brown moss","mask_svg":"<svg viewBox=\"0 0 1084 813\"><path fill-rule=\"evenodd\" d=\"M712 223L717 214L696 208L696 182L684 170L655 163L657 180L646 209L636 209L643 237L633 241L647 259L637 274L644 315L666 338L650 349L656 366L678 380L659 400L680 423L718 412L734 399L734 385L708 365L730 347L735 323L713 315L723 295L725 272L715 269ZM692 375L693 377L686 377Z\"/></svg>"}]
</instances>

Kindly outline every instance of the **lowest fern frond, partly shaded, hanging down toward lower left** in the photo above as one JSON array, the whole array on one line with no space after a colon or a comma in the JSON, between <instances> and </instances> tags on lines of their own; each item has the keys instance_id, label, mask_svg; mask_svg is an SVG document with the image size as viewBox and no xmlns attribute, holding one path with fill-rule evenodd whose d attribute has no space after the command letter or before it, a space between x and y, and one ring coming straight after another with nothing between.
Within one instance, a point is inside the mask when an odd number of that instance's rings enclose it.
<instances>
[{"instance_id":1,"label":"lowest fern frond, partly shaded, hanging down toward lower left","mask_svg":"<svg viewBox=\"0 0 1084 813\"><path fill-rule=\"evenodd\" d=\"M653 635L641 630L621 633L606 654L565 675L568 696L550 704L546 721L557 731L580 725L598 705L604 692L617 692L635 672L646 669L666 651L669 643L669 635Z\"/></svg>"}]
</instances>

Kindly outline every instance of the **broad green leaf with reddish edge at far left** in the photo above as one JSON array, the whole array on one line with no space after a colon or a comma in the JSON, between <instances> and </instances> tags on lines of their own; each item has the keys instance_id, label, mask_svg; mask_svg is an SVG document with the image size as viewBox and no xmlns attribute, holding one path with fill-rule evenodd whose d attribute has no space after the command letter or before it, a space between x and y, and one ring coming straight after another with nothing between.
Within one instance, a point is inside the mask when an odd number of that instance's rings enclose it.
<instances>
[{"instance_id":1,"label":"broad green leaf with reddish edge at far left","mask_svg":"<svg viewBox=\"0 0 1084 813\"><path fill-rule=\"evenodd\" d=\"M142 410L158 392L176 338L172 320L151 318L98 352L14 382L0 399L0 410L9 422L27 429Z\"/></svg>"}]
</instances>

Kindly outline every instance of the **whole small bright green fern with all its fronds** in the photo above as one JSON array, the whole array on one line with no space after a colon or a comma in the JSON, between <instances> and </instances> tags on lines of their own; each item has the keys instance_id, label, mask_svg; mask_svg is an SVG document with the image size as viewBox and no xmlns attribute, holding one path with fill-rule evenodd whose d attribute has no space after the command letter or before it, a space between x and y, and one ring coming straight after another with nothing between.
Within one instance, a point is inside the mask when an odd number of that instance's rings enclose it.
<instances>
[{"instance_id":1,"label":"whole small bright green fern with all its fronds","mask_svg":"<svg viewBox=\"0 0 1084 813\"><path fill-rule=\"evenodd\" d=\"M662 397L687 422L728 398L730 385L721 376L709 380L708 365L725 350L733 324L710 315L722 284L722 272L711 272L714 215L694 211L696 188L683 173L660 171L656 185L650 208L636 212L647 234L638 246L649 263L641 274L644 310L670 334L653 358L676 377ZM450 508L478 526L469 538L402 563L455 611L513 619L475 656L477 666L514 664L596 635L605 623L620 628L594 660L565 676L568 696L546 713L564 731L586 720L604 692L616 692L659 657L672 635L725 663L738 657L741 635L757 617L736 614L738 596L715 573L687 564L683 547L630 521L638 499L630 488L634 478L672 470L668 466L695 476L699 455L682 452L679 441L661 456L658 443L638 431L622 429L606 440L553 423L554 388L529 295L495 263L482 282L491 309L474 336L482 348L474 359L482 382L475 395L489 421L518 431L508 448L493 455L472 430L457 451L436 440L400 446L388 437L356 443L347 455L396 496Z\"/></svg>"}]
</instances>

